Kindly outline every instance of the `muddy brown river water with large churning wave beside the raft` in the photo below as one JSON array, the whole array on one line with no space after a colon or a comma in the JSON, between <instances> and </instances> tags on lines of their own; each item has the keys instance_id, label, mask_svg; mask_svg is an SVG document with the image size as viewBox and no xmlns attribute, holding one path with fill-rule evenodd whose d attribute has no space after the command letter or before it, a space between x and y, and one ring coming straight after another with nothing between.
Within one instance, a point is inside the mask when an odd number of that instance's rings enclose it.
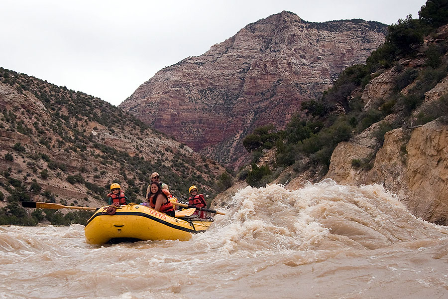
<instances>
[{"instance_id":1,"label":"muddy brown river water with large churning wave beside the raft","mask_svg":"<svg viewBox=\"0 0 448 299\"><path fill-rule=\"evenodd\" d=\"M0 227L1 298L448 298L448 228L380 185L246 187L191 241Z\"/></svg>"}]
</instances>

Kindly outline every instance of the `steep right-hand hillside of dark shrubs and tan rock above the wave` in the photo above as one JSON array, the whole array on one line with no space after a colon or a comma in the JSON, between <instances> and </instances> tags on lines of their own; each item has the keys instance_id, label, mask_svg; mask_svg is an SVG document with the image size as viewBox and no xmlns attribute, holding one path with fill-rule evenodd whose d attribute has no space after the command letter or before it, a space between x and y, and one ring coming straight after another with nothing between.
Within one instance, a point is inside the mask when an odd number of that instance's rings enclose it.
<instances>
[{"instance_id":1,"label":"steep right-hand hillside of dark shrubs and tan rock above the wave","mask_svg":"<svg viewBox=\"0 0 448 299\"><path fill-rule=\"evenodd\" d=\"M414 215L448 225L448 1L428 1L419 16L390 26L366 64L304 103L306 116L248 135L253 163L238 177L293 189L324 178L383 184Z\"/></svg>"}]
</instances>

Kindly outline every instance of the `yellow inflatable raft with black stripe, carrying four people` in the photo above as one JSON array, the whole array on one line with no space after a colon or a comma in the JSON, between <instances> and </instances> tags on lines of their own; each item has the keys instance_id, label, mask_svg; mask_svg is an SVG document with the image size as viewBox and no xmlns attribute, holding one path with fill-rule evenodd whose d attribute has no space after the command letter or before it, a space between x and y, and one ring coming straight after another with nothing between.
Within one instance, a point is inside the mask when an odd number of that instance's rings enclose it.
<instances>
[{"instance_id":1,"label":"yellow inflatable raft with black stripe, carrying four people","mask_svg":"<svg viewBox=\"0 0 448 299\"><path fill-rule=\"evenodd\" d=\"M102 207L93 214L84 228L89 244L105 244L121 240L190 240L192 234L205 232L213 220L188 217L174 218L149 207L123 205L114 215L104 215Z\"/></svg>"}]
</instances>

